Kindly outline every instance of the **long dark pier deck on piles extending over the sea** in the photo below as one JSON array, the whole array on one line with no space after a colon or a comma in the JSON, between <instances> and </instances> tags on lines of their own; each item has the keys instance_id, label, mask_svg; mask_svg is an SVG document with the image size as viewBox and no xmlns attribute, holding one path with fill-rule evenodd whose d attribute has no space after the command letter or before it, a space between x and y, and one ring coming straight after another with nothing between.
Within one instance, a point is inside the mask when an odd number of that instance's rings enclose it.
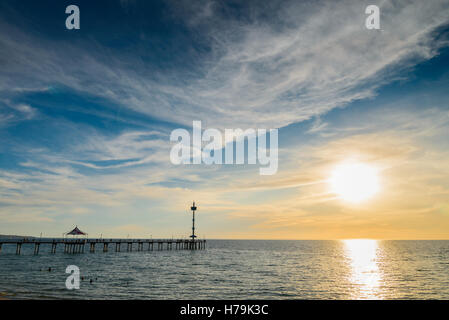
<instances>
[{"instance_id":1,"label":"long dark pier deck on piles extending over the sea","mask_svg":"<svg viewBox=\"0 0 449 320\"><path fill-rule=\"evenodd\" d=\"M126 251L131 252L135 248L137 251L161 251L161 250L203 250L206 248L206 240L186 240L186 239L0 239L0 253L4 244L16 245L16 254L20 255L22 245L33 245L34 254L39 254L41 244L49 244L50 253L55 254L58 245L64 246L64 253L84 253L86 247L90 253L96 250L108 252L115 249L121 251L121 245L126 244ZM156 245L155 245L156 244Z\"/></svg>"}]
</instances>

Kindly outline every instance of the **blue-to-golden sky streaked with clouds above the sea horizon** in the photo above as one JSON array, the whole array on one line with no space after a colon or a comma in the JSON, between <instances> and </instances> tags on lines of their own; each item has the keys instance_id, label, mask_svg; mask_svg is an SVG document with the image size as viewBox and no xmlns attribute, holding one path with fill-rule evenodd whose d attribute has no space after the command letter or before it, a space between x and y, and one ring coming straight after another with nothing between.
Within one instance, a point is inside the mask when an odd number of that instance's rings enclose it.
<instances>
[{"instance_id":1,"label":"blue-to-golden sky streaked with clouds above the sea horizon","mask_svg":"<svg viewBox=\"0 0 449 320\"><path fill-rule=\"evenodd\" d=\"M65 8L80 9L68 30ZM380 8L380 30L365 8ZM0 3L0 234L449 239L447 1ZM279 168L170 133L278 129ZM329 179L378 170L360 203Z\"/></svg>"}]
</instances>

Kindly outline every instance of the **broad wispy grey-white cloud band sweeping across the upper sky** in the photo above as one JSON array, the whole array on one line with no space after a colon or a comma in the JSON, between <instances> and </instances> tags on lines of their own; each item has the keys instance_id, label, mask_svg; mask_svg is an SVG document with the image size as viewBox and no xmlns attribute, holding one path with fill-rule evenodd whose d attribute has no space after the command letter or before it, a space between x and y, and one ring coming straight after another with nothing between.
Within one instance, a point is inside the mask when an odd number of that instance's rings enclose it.
<instances>
[{"instance_id":1,"label":"broad wispy grey-white cloud band sweeping across the upper sky","mask_svg":"<svg viewBox=\"0 0 449 320\"><path fill-rule=\"evenodd\" d=\"M372 31L355 1L285 3L265 20L250 7L243 21L216 6L189 25L212 48L190 75L154 73L151 65L138 71L128 66L140 61L92 43L59 42L49 51L51 40L2 23L0 54L9 63L0 83L11 91L17 81L62 84L182 124L200 118L213 127L282 127L372 97L399 68L434 56L444 42L433 32L449 13L445 1L384 2L383 30Z\"/></svg>"}]
</instances>

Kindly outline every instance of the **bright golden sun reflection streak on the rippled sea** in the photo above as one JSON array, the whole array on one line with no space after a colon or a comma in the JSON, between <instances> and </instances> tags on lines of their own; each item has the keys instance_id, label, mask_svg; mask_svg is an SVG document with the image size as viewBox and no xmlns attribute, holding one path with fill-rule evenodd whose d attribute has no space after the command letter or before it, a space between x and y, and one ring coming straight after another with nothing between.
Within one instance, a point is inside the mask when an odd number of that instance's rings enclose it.
<instances>
[{"instance_id":1,"label":"bright golden sun reflection streak on the rippled sea","mask_svg":"<svg viewBox=\"0 0 449 320\"><path fill-rule=\"evenodd\" d=\"M353 299L380 299L381 273L377 264L377 240L344 240L344 251L351 268Z\"/></svg>"}]
</instances>

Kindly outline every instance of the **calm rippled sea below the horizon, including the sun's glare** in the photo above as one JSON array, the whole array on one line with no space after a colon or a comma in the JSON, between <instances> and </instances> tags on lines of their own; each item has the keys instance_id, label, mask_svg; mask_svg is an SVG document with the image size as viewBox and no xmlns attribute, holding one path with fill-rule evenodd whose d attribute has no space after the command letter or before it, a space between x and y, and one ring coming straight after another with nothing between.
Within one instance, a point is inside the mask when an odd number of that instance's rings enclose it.
<instances>
[{"instance_id":1,"label":"calm rippled sea below the horizon, including the sun's glare","mask_svg":"<svg viewBox=\"0 0 449 320\"><path fill-rule=\"evenodd\" d=\"M33 256L33 245L24 245L16 256L15 246L3 245L0 297L449 299L449 241L210 240L204 251L49 251L41 246ZM80 290L65 288L70 264L85 277Z\"/></svg>"}]
</instances>

